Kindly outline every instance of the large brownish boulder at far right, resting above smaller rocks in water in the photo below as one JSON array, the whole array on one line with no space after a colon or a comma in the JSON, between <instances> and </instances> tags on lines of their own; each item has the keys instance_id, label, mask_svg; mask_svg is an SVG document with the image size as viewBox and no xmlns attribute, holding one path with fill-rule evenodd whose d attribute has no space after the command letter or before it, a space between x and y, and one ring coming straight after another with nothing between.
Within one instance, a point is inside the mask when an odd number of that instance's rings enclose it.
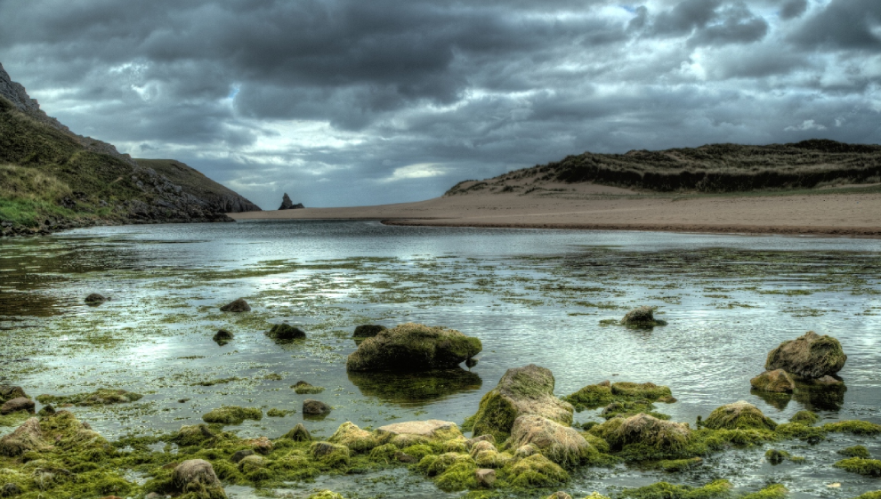
<instances>
[{"instance_id":1,"label":"large brownish boulder at far right, resting above smaller rocks in water","mask_svg":"<svg viewBox=\"0 0 881 499\"><path fill-rule=\"evenodd\" d=\"M847 356L838 340L808 331L771 350L764 368L768 371L783 369L800 378L816 379L836 374L845 366L846 360Z\"/></svg>"}]
</instances>

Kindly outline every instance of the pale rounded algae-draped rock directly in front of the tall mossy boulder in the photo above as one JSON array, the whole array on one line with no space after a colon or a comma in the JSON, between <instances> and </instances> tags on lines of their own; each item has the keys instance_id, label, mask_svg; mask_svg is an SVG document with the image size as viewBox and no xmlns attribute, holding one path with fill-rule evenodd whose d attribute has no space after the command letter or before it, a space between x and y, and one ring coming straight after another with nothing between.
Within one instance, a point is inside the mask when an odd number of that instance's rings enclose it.
<instances>
[{"instance_id":1,"label":"pale rounded algae-draped rock directly in front of the tall mossy boulder","mask_svg":"<svg viewBox=\"0 0 881 499\"><path fill-rule=\"evenodd\" d=\"M514 420L508 444L515 448L532 444L542 455L564 466L585 463L597 452L575 429L535 414Z\"/></svg>"}]
</instances>

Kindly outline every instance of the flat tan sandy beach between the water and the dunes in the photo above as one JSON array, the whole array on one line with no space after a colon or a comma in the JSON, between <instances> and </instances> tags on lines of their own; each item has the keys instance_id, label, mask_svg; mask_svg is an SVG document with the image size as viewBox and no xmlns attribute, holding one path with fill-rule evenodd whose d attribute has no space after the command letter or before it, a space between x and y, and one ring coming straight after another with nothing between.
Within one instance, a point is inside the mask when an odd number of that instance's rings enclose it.
<instances>
[{"instance_id":1,"label":"flat tan sandy beach between the water and the dunes","mask_svg":"<svg viewBox=\"0 0 881 499\"><path fill-rule=\"evenodd\" d=\"M881 237L881 193L675 196L598 185L468 194L416 203L230 213L236 220L364 219L388 224Z\"/></svg>"}]
</instances>

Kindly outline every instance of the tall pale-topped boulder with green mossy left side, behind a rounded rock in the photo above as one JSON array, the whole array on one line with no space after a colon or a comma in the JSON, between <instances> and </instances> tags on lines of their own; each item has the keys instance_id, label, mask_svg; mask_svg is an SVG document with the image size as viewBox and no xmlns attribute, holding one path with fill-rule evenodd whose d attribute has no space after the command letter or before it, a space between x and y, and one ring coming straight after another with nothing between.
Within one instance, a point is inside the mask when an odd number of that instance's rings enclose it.
<instances>
[{"instance_id":1,"label":"tall pale-topped boulder with green mossy left side, behind a rounded rock","mask_svg":"<svg viewBox=\"0 0 881 499\"><path fill-rule=\"evenodd\" d=\"M505 441L514 421L528 414L570 425L574 409L554 397L554 382L554 374L545 367L530 364L508 369L496 388L481 398L481 406L473 416L473 434Z\"/></svg>"}]
</instances>

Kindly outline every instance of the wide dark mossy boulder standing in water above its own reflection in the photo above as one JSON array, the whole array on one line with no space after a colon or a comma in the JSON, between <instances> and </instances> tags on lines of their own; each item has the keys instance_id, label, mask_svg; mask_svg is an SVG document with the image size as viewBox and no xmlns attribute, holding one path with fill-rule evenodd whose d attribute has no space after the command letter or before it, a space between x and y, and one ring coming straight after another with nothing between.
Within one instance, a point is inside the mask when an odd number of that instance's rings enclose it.
<instances>
[{"instance_id":1,"label":"wide dark mossy boulder standing in water above its own reflection","mask_svg":"<svg viewBox=\"0 0 881 499\"><path fill-rule=\"evenodd\" d=\"M481 341L454 329L402 324L361 342L349 371L425 371L455 367L483 350Z\"/></svg>"}]
</instances>

